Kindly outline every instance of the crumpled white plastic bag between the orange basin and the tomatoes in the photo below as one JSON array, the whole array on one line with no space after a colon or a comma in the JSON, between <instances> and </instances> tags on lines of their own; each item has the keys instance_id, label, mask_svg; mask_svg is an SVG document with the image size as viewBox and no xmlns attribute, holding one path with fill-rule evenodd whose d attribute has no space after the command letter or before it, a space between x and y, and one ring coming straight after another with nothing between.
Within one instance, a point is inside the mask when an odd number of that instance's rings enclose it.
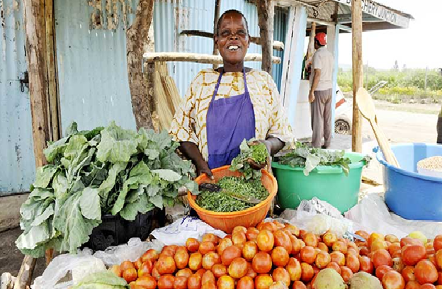
<instances>
[{"instance_id":1,"label":"crumpled white plastic bag between the orange basin and the tomatoes","mask_svg":"<svg viewBox=\"0 0 442 289\"><path fill-rule=\"evenodd\" d=\"M183 217L169 226L154 229L151 234L166 245L183 246L188 238L200 239L204 234L209 233L220 238L226 236L225 232L214 229L196 217Z\"/></svg>"}]
</instances>

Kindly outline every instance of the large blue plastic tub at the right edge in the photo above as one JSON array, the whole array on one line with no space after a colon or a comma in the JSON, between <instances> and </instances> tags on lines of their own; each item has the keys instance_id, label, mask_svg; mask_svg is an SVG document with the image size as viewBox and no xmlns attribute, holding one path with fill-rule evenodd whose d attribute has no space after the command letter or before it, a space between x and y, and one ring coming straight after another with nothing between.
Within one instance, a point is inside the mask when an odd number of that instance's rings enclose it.
<instances>
[{"instance_id":1,"label":"large blue plastic tub at the right edge","mask_svg":"<svg viewBox=\"0 0 442 289\"><path fill-rule=\"evenodd\" d=\"M409 220L442 221L442 178L417 173L417 162L442 156L442 145L410 143L393 145L398 169L385 162L380 149L373 149L383 165L385 203L397 215Z\"/></svg>"}]
</instances>

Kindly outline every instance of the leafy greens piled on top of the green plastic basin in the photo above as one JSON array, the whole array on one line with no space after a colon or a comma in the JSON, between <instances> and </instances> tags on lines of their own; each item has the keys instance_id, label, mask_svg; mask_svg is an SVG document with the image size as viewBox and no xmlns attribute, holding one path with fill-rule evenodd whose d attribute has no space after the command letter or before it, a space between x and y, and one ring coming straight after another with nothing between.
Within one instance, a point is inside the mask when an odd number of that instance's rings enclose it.
<instances>
[{"instance_id":1,"label":"leafy greens piled on top of the green plastic basin","mask_svg":"<svg viewBox=\"0 0 442 289\"><path fill-rule=\"evenodd\" d=\"M309 148L296 143L296 148L278 156L279 164L286 164L292 167L304 167L304 174L308 176L317 166L341 166L344 174L348 176L351 160L344 157L344 150L329 151L325 149Z\"/></svg>"}]
</instances>

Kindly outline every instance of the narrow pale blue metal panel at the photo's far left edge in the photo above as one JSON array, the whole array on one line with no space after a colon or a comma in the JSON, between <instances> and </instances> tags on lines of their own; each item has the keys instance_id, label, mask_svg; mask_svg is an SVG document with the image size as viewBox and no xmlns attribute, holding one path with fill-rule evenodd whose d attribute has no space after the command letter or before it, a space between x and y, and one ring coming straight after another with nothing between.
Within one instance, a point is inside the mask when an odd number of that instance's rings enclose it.
<instances>
[{"instance_id":1,"label":"narrow pale blue metal panel at the photo's far left edge","mask_svg":"<svg viewBox=\"0 0 442 289\"><path fill-rule=\"evenodd\" d=\"M0 0L0 196L29 191L35 176L22 2Z\"/></svg>"}]
</instances>

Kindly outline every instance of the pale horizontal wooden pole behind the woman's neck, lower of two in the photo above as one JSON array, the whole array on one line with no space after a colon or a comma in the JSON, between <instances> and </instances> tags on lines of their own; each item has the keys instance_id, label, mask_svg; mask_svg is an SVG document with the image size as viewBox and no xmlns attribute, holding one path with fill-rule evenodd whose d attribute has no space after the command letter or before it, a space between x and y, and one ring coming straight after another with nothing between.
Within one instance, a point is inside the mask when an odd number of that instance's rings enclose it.
<instances>
[{"instance_id":1,"label":"pale horizontal wooden pole behind the woman's neck, lower of two","mask_svg":"<svg viewBox=\"0 0 442 289\"><path fill-rule=\"evenodd\" d=\"M198 53L184 53L184 52L154 52L145 53L143 55L146 62L166 62L166 61L181 61L181 62L198 62L206 64L222 64L222 57L220 55L204 55ZM259 54L250 53L244 58L244 61L261 61L262 56ZM273 56L273 63L280 64L280 57Z\"/></svg>"}]
</instances>

